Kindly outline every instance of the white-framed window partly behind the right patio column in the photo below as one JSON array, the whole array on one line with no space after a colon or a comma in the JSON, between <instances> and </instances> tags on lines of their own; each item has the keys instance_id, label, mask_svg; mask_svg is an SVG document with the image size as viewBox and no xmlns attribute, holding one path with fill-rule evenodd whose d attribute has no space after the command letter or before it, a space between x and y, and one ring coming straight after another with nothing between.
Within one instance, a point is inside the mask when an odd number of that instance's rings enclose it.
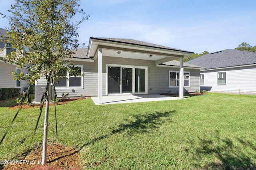
<instances>
[{"instance_id":1,"label":"white-framed window partly behind the right patio column","mask_svg":"<svg viewBox=\"0 0 256 170\"><path fill-rule=\"evenodd\" d=\"M169 87L180 86L180 72L169 71ZM184 87L190 86L190 72L184 72Z\"/></svg>"}]
</instances>

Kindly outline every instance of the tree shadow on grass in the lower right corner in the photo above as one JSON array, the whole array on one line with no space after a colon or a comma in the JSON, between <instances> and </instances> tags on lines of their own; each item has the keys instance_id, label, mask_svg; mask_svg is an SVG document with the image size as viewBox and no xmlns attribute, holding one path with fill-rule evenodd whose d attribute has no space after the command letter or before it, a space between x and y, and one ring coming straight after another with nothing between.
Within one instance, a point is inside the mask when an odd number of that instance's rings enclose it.
<instances>
[{"instance_id":1,"label":"tree shadow on grass in the lower right corner","mask_svg":"<svg viewBox=\"0 0 256 170\"><path fill-rule=\"evenodd\" d=\"M203 167L194 164L200 169L227 169L227 170L256 170L256 146L251 141L236 138L242 144L242 147L234 144L234 140L229 138L220 138L219 131L216 131L215 139L199 139L199 147L196 148L194 160L200 161L204 156L216 156L214 162L210 162ZM250 156L251 155L251 156Z\"/></svg>"}]
</instances>

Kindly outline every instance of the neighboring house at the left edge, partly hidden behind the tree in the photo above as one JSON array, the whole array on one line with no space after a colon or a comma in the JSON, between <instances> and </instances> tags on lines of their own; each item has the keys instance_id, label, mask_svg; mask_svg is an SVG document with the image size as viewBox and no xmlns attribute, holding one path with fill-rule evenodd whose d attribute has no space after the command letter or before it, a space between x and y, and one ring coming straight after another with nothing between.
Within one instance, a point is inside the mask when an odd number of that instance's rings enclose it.
<instances>
[{"instance_id":1,"label":"neighboring house at the left edge, partly hidden behind the tree","mask_svg":"<svg viewBox=\"0 0 256 170\"><path fill-rule=\"evenodd\" d=\"M12 48L10 43L6 43L6 30L0 28L0 88L21 88L20 93L27 90L28 83L26 81L13 80L10 73L15 70L18 74L26 70L24 68L19 68L18 65L10 64L5 62L5 56L10 54L12 51L16 50ZM4 48L5 47L5 48Z\"/></svg>"}]
</instances>

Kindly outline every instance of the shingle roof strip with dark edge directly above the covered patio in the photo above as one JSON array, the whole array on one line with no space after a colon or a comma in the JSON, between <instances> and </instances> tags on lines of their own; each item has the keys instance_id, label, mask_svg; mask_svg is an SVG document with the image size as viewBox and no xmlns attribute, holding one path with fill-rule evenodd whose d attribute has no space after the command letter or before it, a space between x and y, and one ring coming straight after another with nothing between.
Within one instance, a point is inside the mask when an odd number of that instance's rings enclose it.
<instances>
[{"instance_id":1,"label":"shingle roof strip with dark edge directly above the covered patio","mask_svg":"<svg viewBox=\"0 0 256 170\"><path fill-rule=\"evenodd\" d=\"M166 47L162 45L156 45L152 43L147 43L144 41L138 41L134 39L119 39L119 38L98 38L98 37L90 37L91 39L97 39L97 40L103 40L103 41L111 41L111 42L117 42L117 43L125 43L125 44L131 44L131 45L141 45L144 47L154 47L154 48L159 48L159 49L168 49L168 50L173 50L173 51L181 51L181 52L186 52L186 53L194 53L190 51L185 51L181 49L175 49L172 47Z\"/></svg>"}]
</instances>

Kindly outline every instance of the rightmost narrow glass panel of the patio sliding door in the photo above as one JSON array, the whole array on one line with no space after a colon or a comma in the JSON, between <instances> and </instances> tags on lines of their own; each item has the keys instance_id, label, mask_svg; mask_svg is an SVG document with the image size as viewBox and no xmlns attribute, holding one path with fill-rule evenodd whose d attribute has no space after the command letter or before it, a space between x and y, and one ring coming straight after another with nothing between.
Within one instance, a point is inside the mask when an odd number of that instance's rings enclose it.
<instances>
[{"instance_id":1,"label":"rightmost narrow glass panel of the patio sliding door","mask_svg":"<svg viewBox=\"0 0 256 170\"><path fill-rule=\"evenodd\" d=\"M146 92L146 69L135 68L135 93Z\"/></svg>"}]
</instances>

